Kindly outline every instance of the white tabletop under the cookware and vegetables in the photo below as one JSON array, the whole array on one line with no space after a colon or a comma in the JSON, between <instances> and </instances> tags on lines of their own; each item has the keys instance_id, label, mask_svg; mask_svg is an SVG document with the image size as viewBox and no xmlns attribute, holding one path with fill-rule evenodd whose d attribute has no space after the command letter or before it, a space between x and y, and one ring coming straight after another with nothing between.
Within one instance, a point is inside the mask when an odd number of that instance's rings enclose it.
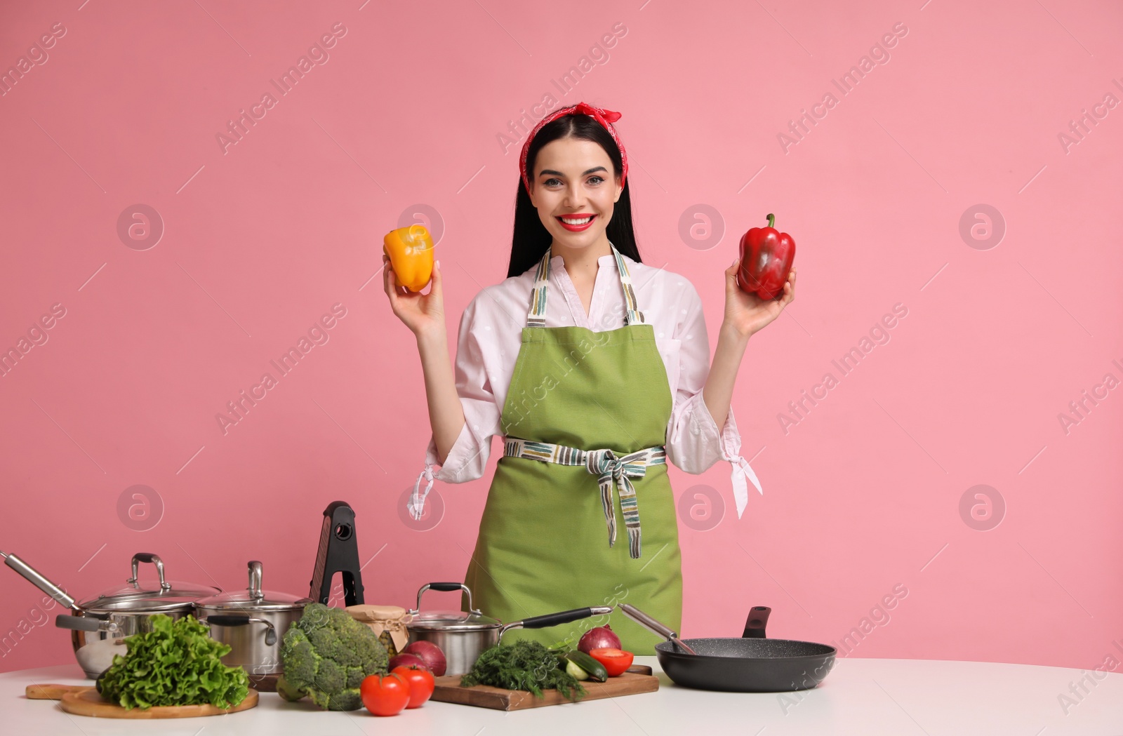
<instances>
[{"instance_id":1,"label":"white tabletop under the cookware and vegetables","mask_svg":"<svg viewBox=\"0 0 1123 736\"><path fill-rule=\"evenodd\" d=\"M1065 714L1058 696L1077 700L1070 683L1083 670L944 660L839 659L813 690L788 693L707 692L675 686L654 656L657 692L514 712L427 702L389 718L366 710L329 712L262 693L256 708L228 716L119 720L72 716L49 700L27 700L30 683L91 684L76 664L0 674L0 734L30 736L347 736L440 734L497 736L613 734L693 736L739 734L980 734L1123 736L1123 674L1107 673Z\"/></svg>"}]
</instances>

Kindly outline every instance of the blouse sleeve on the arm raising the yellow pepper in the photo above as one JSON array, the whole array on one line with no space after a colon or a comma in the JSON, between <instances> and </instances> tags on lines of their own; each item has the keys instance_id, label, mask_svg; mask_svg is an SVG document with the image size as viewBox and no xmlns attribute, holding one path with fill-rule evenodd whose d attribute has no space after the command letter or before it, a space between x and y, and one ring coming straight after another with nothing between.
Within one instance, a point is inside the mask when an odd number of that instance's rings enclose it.
<instances>
[{"instance_id":1,"label":"blouse sleeve on the arm raising the yellow pepper","mask_svg":"<svg viewBox=\"0 0 1123 736\"><path fill-rule=\"evenodd\" d=\"M500 407L489 378L487 350L475 329L478 298L464 309L456 341L456 393L464 407L464 426L444 463L438 463L437 442L430 433L424 469L418 476L410 498L410 510L417 518L420 518L433 479L458 484L483 477L491 454L491 438L500 427ZM433 472L438 464L440 470ZM422 482L427 484L423 489Z\"/></svg>"}]
</instances>

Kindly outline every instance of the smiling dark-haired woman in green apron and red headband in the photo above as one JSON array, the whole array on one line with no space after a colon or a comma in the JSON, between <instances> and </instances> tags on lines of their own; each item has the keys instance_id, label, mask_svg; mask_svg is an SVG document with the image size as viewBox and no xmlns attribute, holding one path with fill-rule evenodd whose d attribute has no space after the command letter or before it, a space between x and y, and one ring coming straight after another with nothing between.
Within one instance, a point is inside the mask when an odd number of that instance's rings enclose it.
<instances>
[{"instance_id":1,"label":"smiling dark-haired woman in green apron and red headband","mask_svg":"<svg viewBox=\"0 0 1123 736\"><path fill-rule=\"evenodd\" d=\"M384 259L391 307L417 338L432 425L411 513L420 517L435 478L482 477L492 435L503 438L465 576L474 606L503 622L626 601L677 631L681 555L666 463L700 473L732 462L738 516L746 476L760 490L738 454L730 397L749 337L794 298L795 269L782 298L767 302L737 286L737 261L725 269L709 366L694 286L640 261L619 117L582 102L528 136L508 277L465 309L455 377L440 264L422 295L401 287ZM610 623L626 650L655 653L658 636L619 610ZM588 625L509 636L553 643Z\"/></svg>"}]
</instances>

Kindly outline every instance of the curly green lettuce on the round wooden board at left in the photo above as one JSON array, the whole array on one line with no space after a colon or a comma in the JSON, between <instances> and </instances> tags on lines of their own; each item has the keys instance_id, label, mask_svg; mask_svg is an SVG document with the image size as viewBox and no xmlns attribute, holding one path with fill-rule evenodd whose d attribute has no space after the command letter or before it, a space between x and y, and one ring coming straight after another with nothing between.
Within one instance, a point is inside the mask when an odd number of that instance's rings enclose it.
<instances>
[{"instance_id":1,"label":"curly green lettuce on the round wooden board at left","mask_svg":"<svg viewBox=\"0 0 1123 736\"><path fill-rule=\"evenodd\" d=\"M220 657L230 652L194 616L172 619L149 617L150 632L125 638L125 656L98 680L101 697L126 709L152 706L232 708L249 693L249 678L240 666L227 666Z\"/></svg>"}]
</instances>

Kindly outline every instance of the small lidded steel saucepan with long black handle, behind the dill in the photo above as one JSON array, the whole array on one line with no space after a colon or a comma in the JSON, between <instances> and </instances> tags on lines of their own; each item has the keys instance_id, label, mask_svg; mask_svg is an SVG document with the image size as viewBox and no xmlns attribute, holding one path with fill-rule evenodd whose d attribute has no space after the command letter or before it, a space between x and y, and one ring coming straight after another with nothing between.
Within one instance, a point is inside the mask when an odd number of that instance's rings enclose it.
<instances>
[{"instance_id":1,"label":"small lidded steel saucepan with long black handle, behind the dill","mask_svg":"<svg viewBox=\"0 0 1123 736\"><path fill-rule=\"evenodd\" d=\"M421 596L426 590L463 590L468 594L468 610L438 610L422 614ZM405 628L410 633L410 643L432 642L439 646L448 663L445 674L453 675L464 674L471 670L480 654L487 647L499 644L500 637L509 629L546 628L611 613L611 606L592 606L504 624L473 608L472 590L463 582L430 582L418 590L418 607L409 611L413 619L405 624Z\"/></svg>"}]
</instances>

